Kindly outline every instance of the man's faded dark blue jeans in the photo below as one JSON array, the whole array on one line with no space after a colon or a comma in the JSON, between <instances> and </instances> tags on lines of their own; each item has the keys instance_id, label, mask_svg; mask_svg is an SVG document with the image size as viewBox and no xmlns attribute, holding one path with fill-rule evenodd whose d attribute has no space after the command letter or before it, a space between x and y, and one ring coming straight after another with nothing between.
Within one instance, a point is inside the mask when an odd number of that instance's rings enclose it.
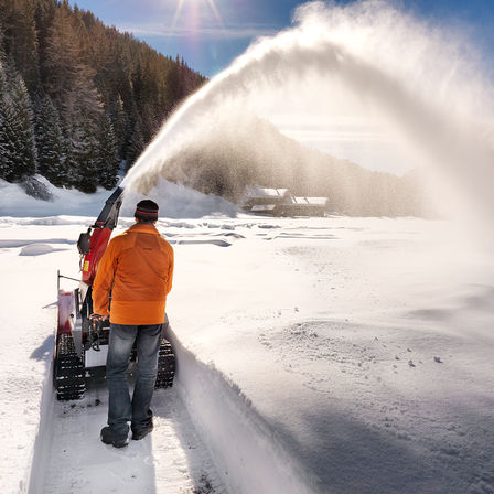
<instances>
[{"instance_id":1,"label":"man's faded dark blue jeans","mask_svg":"<svg viewBox=\"0 0 494 494\"><path fill-rule=\"evenodd\" d=\"M127 368L133 342L137 346L137 376L130 399ZM149 408L158 374L161 324L110 324L110 341L106 363L109 406L108 426L117 437L127 437L128 422L133 431L146 429L152 419Z\"/></svg>"}]
</instances>

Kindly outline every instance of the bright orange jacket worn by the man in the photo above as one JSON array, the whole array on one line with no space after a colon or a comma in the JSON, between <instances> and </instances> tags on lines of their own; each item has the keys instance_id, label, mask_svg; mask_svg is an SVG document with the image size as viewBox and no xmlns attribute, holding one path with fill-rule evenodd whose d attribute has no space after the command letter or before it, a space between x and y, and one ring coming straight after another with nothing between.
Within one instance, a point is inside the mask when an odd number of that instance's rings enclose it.
<instances>
[{"instance_id":1,"label":"bright orange jacket worn by the man","mask_svg":"<svg viewBox=\"0 0 494 494\"><path fill-rule=\"evenodd\" d=\"M154 225L132 225L110 240L99 261L93 312L109 315L114 324L161 324L172 277L171 245Z\"/></svg>"}]
</instances>

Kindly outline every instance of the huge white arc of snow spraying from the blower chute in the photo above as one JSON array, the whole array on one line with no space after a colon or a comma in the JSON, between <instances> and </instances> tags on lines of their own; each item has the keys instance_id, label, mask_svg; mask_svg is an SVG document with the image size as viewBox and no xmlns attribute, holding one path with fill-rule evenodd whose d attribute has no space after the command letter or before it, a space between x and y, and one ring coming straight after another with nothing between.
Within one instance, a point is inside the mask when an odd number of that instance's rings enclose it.
<instances>
[{"instance_id":1,"label":"huge white arc of snow spraying from the blower chute","mask_svg":"<svg viewBox=\"0 0 494 494\"><path fill-rule=\"evenodd\" d=\"M299 120L301 127L312 114L332 119L333 127L345 118L357 121L354 135L364 126L384 136L399 160L433 178L443 212L464 210L474 197L491 215L494 153L486 136L494 90L486 68L458 30L431 25L389 2L310 2L296 11L292 28L258 40L191 96L124 185L147 192L160 173L176 175L173 158L217 121L230 118L235 127L243 109L278 125Z\"/></svg>"}]
</instances>

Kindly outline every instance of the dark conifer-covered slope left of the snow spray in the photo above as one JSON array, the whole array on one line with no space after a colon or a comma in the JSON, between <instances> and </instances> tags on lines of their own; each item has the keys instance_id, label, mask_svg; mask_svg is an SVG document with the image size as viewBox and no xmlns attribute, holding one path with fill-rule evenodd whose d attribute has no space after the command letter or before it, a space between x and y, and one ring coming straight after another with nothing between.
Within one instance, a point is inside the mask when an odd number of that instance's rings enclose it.
<instances>
[{"instance_id":1,"label":"dark conifer-covered slope left of the snow spray","mask_svg":"<svg viewBox=\"0 0 494 494\"><path fill-rule=\"evenodd\" d=\"M0 178L111 189L204 80L66 1L0 0Z\"/></svg>"}]
</instances>

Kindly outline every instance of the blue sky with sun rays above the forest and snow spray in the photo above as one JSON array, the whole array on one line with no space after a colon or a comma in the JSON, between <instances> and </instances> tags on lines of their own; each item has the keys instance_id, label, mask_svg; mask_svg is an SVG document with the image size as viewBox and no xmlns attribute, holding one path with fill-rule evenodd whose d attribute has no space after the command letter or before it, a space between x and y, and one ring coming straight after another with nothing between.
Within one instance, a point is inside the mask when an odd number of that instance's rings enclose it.
<instances>
[{"instance_id":1,"label":"blue sky with sun rays above the forest and snow spray","mask_svg":"<svg viewBox=\"0 0 494 494\"><path fill-rule=\"evenodd\" d=\"M289 26L296 0L71 0L211 77L250 42ZM336 1L347 3L347 1ZM494 0L396 0L434 23L461 25L494 61ZM491 61L492 63L492 61Z\"/></svg>"}]
</instances>

